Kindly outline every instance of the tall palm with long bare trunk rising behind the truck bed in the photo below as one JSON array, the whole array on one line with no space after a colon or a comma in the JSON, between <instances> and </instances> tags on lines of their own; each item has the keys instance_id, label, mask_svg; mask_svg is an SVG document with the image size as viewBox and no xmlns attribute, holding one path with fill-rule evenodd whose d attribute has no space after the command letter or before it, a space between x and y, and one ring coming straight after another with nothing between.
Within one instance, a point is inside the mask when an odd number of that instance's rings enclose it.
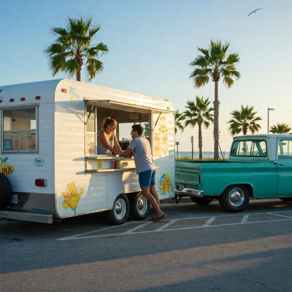
<instances>
[{"instance_id":1,"label":"tall palm with long bare trunk rising behind the truck bed","mask_svg":"<svg viewBox=\"0 0 292 292\"><path fill-rule=\"evenodd\" d=\"M193 80L195 87L199 88L209 82L215 82L215 99L214 99L214 159L219 159L219 99L218 99L218 82L220 77L223 78L223 83L230 88L234 84L232 78L240 78L240 73L236 71L235 65L239 62L238 54L229 54L226 56L229 43L222 44L221 41L213 41L209 49L198 50L202 53L193 62L190 63L195 67L190 78Z\"/></svg>"}]
</instances>

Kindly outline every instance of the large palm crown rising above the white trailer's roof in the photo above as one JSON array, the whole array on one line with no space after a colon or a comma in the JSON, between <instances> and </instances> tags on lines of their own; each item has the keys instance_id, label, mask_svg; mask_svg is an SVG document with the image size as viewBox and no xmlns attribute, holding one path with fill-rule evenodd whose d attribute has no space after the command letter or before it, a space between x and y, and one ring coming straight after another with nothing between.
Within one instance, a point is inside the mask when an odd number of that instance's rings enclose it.
<instances>
[{"instance_id":1,"label":"large palm crown rising above the white trailer's roof","mask_svg":"<svg viewBox=\"0 0 292 292\"><path fill-rule=\"evenodd\" d=\"M92 38L99 31L100 26L91 26L91 18L83 20L68 18L67 29L54 27L52 34L55 43L48 46L44 53L49 59L49 66L55 76L63 71L69 76L76 74L76 80L81 81L81 70L86 60L87 78L91 81L97 73L102 72L103 63L98 57L109 52L102 42L91 45Z\"/></svg>"}]
</instances>

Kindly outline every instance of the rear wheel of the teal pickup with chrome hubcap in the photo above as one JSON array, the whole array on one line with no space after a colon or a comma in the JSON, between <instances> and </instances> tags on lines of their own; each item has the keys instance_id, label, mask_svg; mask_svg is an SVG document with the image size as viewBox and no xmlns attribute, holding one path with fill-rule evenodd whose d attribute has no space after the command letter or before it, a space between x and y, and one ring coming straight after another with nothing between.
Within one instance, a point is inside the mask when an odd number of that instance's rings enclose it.
<instances>
[{"instance_id":1,"label":"rear wheel of the teal pickup with chrome hubcap","mask_svg":"<svg viewBox=\"0 0 292 292\"><path fill-rule=\"evenodd\" d=\"M249 189L245 185L231 185L218 198L220 206L228 212L241 212L250 200Z\"/></svg>"}]
</instances>

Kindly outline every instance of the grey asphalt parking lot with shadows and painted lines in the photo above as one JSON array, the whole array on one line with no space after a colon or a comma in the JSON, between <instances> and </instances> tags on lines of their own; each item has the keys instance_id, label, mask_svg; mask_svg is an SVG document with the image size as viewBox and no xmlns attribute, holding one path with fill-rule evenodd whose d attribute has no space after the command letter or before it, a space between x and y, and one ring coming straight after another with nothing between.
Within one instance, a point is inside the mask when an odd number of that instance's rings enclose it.
<instances>
[{"instance_id":1,"label":"grey asphalt parking lot with shadows and painted lines","mask_svg":"<svg viewBox=\"0 0 292 292\"><path fill-rule=\"evenodd\" d=\"M159 223L103 214L0 221L1 291L292 291L292 203L164 201Z\"/></svg>"}]
</instances>

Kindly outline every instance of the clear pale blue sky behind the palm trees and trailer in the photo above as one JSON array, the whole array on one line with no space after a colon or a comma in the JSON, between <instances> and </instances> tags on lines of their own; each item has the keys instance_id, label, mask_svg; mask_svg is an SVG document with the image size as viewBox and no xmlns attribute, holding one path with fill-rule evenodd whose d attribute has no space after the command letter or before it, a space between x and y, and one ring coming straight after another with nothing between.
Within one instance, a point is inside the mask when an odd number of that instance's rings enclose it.
<instances>
[{"instance_id":1,"label":"clear pale blue sky behind the palm trees and trailer","mask_svg":"<svg viewBox=\"0 0 292 292\"><path fill-rule=\"evenodd\" d=\"M247 16L256 8L262 8ZM241 78L231 89L220 83L220 145L232 138L226 122L240 105L254 106L260 133L277 122L292 126L291 0L0 0L0 85L66 78L52 77L43 49L53 41L51 27L65 27L68 16L92 17L101 26L94 43L110 52L93 84L171 100L183 111L187 100L214 100L214 82L195 89L189 63L210 39L230 42L239 54ZM86 81L82 76L82 81ZM198 128L176 137L179 150L198 150ZM213 150L212 126L203 130L203 151Z\"/></svg>"}]
</instances>

